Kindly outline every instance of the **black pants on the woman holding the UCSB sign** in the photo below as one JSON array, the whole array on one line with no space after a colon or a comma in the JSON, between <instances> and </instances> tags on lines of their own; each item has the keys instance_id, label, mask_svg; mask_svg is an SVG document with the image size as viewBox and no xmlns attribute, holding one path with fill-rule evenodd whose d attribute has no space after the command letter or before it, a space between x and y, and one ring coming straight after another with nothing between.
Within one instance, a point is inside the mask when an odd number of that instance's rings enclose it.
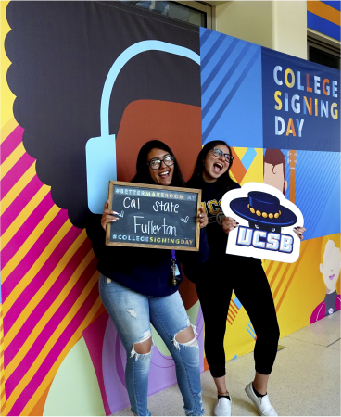
<instances>
[{"instance_id":1,"label":"black pants on the woman holding the UCSB sign","mask_svg":"<svg viewBox=\"0 0 341 417\"><path fill-rule=\"evenodd\" d=\"M211 375L225 375L224 335L232 291L247 311L257 335L254 358L256 371L271 374L279 327L272 293L261 261L233 255L209 259L196 282L205 320L205 352Z\"/></svg>"}]
</instances>

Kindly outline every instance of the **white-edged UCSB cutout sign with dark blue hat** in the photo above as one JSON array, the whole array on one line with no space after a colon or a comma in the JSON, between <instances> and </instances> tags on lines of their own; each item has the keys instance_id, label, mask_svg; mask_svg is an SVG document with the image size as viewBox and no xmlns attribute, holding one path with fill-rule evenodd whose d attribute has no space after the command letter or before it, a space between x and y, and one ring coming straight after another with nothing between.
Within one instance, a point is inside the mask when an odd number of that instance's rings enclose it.
<instances>
[{"instance_id":1,"label":"white-edged UCSB cutout sign with dark blue hat","mask_svg":"<svg viewBox=\"0 0 341 417\"><path fill-rule=\"evenodd\" d=\"M244 184L221 200L225 216L239 222L229 233L226 253L295 262L300 240L294 227L303 226L300 210L276 188L261 183Z\"/></svg>"}]
</instances>

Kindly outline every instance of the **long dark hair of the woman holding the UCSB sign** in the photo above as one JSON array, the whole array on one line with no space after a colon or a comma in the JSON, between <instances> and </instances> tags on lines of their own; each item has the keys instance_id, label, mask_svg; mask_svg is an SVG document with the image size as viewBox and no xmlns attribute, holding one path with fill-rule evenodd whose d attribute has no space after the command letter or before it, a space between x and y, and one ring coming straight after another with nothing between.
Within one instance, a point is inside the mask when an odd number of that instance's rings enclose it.
<instances>
[{"instance_id":1,"label":"long dark hair of the woman holding the UCSB sign","mask_svg":"<svg viewBox=\"0 0 341 417\"><path fill-rule=\"evenodd\" d=\"M216 147L217 145L224 145L227 146L230 155L232 155L232 149L231 147L225 143L222 140L213 140L212 142L206 143L206 145L201 149L201 151L198 154L197 162L195 164L194 172L191 177L191 179L187 182L187 187L191 188L202 188L202 186L205 184L205 181L203 179L203 171L204 171L204 162L205 159L211 149ZM230 169L232 167L233 161L230 163L230 166L226 172L224 172L221 177L218 178L216 184L217 187L220 189L222 193L226 193L226 191L229 191L231 188L235 187L235 182L230 176Z\"/></svg>"}]
</instances>

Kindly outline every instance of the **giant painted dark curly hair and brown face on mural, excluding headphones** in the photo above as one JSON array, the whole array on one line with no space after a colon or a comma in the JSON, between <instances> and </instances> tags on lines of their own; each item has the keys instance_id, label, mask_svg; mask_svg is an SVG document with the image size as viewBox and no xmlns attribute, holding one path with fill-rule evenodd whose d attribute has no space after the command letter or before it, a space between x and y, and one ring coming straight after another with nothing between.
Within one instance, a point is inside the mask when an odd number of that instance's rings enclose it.
<instances>
[{"instance_id":1,"label":"giant painted dark curly hair and brown face on mural, excluding headphones","mask_svg":"<svg viewBox=\"0 0 341 417\"><path fill-rule=\"evenodd\" d=\"M127 11L136 30L125 23ZM129 6L96 2L13 2L7 19L6 52L12 62L7 80L17 96L14 116L25 129L24 147L37 161L39 179L51 186L55 204L68 209L71 222L83 228L89 215L84 149L90 138L101 136L100 108L110 68L131 45L155 39L198 54L197 30L182 36L181 25L169 31L158 17L141 35L147 19L137 18ZM151 135L164 142L172 137L169 145L182 144L186 151L189 124L200 149L200 67L167 52L147 48L133 53L107 98L118 176L121 170L126 181L134 174L127 172L126 160L134 160Z\"/></svg>"}]
</instances>

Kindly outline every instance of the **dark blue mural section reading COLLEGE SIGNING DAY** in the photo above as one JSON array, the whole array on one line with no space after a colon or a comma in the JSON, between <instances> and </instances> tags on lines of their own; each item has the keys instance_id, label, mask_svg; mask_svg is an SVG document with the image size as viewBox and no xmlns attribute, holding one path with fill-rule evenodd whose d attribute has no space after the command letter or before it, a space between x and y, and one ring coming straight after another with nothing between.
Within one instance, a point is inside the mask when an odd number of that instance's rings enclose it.
<instances>
[{"instance_id":1,"label":"dark blue mural section reading COLLEGE SIGNING DAY","mask_svg":"<svg viewBox=\"0 0 341 417\"><path fill-rule=\"evenodd\" d=\"M340 152L340 72L262 48L264 148Z\"/></svg>"}]
</instances>

